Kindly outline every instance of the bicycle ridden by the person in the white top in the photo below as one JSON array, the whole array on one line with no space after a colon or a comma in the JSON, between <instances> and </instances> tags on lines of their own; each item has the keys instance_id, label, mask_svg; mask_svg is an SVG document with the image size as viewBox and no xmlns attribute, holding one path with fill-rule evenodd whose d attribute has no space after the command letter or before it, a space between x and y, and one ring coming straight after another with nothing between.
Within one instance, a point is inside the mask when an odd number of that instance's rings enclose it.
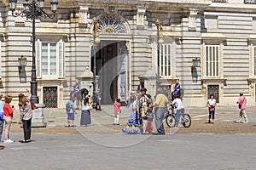
<instances>
[{"instance_id":1,"label":"bicycle ridden by the person in the white top","mask_svg":"<svg viewBox=\"0 0 256 170\"><path fill-rule=\"evenodd\" d=\"M170 111L171 110L171 111ZM175 116L176 113L174 111L174 107L170 107L168 114L166 115L166 124L168 127L174 127L175 126ZM187 113L182 113L180 115L180 123L183 125L183 127L190 127L191 126L191 117Z\"/></svg>"}]
</instances>

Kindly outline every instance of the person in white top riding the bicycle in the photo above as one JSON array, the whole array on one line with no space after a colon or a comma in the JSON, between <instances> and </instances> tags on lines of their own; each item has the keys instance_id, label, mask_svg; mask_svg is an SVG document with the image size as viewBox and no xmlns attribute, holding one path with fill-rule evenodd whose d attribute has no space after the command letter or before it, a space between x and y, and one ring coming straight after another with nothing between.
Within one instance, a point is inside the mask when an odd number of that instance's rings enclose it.
<instances>
[{"instance_id":1,"label":"person in white top riding the bicycle","mask_svg":"<svg viewBox=\"0 0 256 170\"><path fill-rule=\"evenodd\" d=\"M180 116L185 113L184 105L177 95L173 96L173 100L171 100L170 105L174 105L176 107L175 127L177 127Z\"/></svg>"}]
</instances>

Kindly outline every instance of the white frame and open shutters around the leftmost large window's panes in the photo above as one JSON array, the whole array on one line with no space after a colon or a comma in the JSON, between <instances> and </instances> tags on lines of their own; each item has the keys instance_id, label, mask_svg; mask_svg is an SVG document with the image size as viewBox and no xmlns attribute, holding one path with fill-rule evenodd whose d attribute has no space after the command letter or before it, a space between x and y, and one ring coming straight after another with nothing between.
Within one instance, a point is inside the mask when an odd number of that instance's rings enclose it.
<instances>
[{"instance_id":1,"label":"white frame and open shutters around the leftmost large window's panes","mask_svg":"<svg viewBox=\"0 0 256 170\"><path fill-rule=\"evenodd\" d=\"M56 75L42 75L42 43L56 43ZM59 42L54 41L40 41L38 39L36 46L37 54L37 77L38 78L62 78L64 77L64 56L65 56L65 42L62 39Z\"/></svg>"}]
</instances>

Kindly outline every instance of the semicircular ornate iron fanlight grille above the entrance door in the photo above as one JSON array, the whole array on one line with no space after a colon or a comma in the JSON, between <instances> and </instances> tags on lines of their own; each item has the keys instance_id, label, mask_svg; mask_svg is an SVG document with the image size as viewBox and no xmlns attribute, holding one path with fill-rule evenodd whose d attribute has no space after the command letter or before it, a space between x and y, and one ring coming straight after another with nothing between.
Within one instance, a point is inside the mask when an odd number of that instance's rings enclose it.
<instances>
[{"instance_id":1,"label":"semicircular ornate iron fanlight grille above the entrance door","mask_svg":"<svg viewBox=\"0 0 256 170\"><path fill-rule=\"evenodd\" d=\"M114 15L102 15L97 22L100 25L98 29L99 32L126 33L126 28L123 22Z\"/></svg>"}]
</instances>

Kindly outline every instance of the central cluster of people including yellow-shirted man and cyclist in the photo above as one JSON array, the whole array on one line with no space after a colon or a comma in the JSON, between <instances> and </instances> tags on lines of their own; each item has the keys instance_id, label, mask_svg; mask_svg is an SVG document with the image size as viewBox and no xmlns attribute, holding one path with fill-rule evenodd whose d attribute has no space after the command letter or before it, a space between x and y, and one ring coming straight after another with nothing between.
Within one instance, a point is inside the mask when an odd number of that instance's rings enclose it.
<instances>
[{"instance_id":1,"label":"central cluster of people including yellow-shirted man and cyclist","mask_svg":"<svg viewBox=\"0 0 256 170\"><path fill-rule=\"evenodd\" d=\"M165 134L163 119L168 111L167 108L169 105L176 106L177 116L175 118L177 119L176 122L178 122L180 115L184 113L182 100L179 99L177 94L173 94L171 99L163 88L156 90L154 99L150 94L147 94L147 88L141 88L140 92L141 94L139 95L132 92L131 97L128 99L128 103L131 105L131 119L137 120L137 124L143 127L143 133L153 133L152 122L154 121L156 133L153 134ZM177 127L177 123L175 126Z\"/></svg>"}]
</instances>

